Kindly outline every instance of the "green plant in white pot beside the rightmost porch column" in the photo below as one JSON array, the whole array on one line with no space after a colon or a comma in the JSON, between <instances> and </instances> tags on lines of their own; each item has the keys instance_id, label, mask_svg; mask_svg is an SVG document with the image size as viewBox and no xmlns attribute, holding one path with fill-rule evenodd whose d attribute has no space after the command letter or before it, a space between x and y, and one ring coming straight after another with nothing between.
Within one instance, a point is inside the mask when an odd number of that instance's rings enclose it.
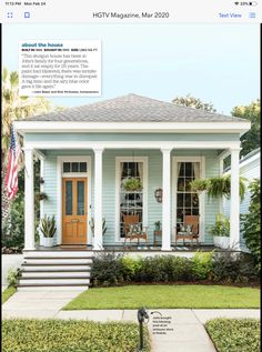
<instances>
[{"instance_id":1,"label":"green plant in white pot beside the rightmost porch column","mask_svg":"<svg viewBox=\"0 0 262 352\"><path fill-rule=\"evenodd\" d=\"M215 215L215 223L210 227L214 245L228 249L230 247L230 221L224 214Z\"/></svg>"}]
</instances>

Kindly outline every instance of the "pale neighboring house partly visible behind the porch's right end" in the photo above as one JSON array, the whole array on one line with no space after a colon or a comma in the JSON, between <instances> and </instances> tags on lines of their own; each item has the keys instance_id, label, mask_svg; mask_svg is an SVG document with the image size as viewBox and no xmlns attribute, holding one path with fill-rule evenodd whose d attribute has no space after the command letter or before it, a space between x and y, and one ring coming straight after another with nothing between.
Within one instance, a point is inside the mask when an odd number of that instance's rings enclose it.
<instances>
[{"instance_id":1,"label":"pale neighboring house partly visible behind the porch's right end","mask_svg":"<svg viewBox=\"0 0 262 352\"><path fill-rule=\"evenodd\" d=\"M240 203L240 213L246 214L249 212L250 205L250 190L248 185L253 179L260 179L260 148L253 150L245 157L243 157L239 162L240 175L246 179L246 191L244 194L244 200ZM231 174L231 168L225 169L224 174ZM230 217L230 201L224 200L223 210L226 217ZM240 245L241 249L246 250L243 233L240 233Z\"/></svg>"}]
</instances>

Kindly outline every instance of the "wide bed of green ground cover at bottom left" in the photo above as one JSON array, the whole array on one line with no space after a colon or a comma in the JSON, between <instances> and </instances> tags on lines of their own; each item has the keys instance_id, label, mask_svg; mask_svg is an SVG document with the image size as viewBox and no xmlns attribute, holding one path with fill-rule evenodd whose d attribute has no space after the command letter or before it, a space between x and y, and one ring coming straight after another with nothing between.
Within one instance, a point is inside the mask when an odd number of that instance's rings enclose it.
<instances>
[{"instance_id":1,"label":"wide bed of green ground cover at bottom left","mask_svg":"<svg viewBox=\"0 0 262 352\"><path fill-rule=\"evenodd\" d=\"M145 330L147 348L150 351ZM75 320L3 320L2 352L133 352L138 324Z\"/></svg>"}]
</instances>

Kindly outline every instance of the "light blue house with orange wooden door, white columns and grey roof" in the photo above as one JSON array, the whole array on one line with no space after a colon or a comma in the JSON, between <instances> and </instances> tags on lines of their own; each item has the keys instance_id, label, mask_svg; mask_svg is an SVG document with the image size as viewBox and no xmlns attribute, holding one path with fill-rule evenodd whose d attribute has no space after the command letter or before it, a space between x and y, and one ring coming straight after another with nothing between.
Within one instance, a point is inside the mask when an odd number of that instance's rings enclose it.
<instances>
[{"instance_id":1,"label":"light blue house with orange wooden door, white columns and grey roof","mask_svg":"<svg viewBox=\"0 0 262 352\"><path fill-rule=\"evenodd\" d=\"M250 122L128 94L79 108L16 121L26 160L26 250L34 250L33 158L41 160L41 214L56 215L56 244L90 244L94 250L123 245L123 215L137 214L153 243L162 223L161 250L174 243L174 227L185 214L200 215L200 242L212 244L208 227L219 200L192 193L194 178L221 174L231 153L231 244L239 243L240 137ZM142 190L121 187L137 178ZM162 202L154 197L162 189ZM107 232L102 237L102 218ZM89 221L94 219L94 235Z\"/></svg>"}]
</instances>

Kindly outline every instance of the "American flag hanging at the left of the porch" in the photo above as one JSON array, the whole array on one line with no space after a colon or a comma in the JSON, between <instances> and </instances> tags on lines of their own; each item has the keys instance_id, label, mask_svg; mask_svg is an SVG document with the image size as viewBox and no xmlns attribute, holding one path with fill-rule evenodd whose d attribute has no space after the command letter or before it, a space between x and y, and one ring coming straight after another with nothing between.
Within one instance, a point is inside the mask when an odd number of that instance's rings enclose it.
<instances>
[{"instance_id":1,"label":"American flag hanging at the left of the porch","mask_svg":"<svg viewBox=\"0 0 262 352\"><path fill-rule=\"evenodd\" d=\"M9 150L8 170L6 177L6 187L8 199L11 200L18 192L18 160L20 155L20 147L17 140L13 127L11 127L11 141Z\"/></svg>"}]
</instances>

